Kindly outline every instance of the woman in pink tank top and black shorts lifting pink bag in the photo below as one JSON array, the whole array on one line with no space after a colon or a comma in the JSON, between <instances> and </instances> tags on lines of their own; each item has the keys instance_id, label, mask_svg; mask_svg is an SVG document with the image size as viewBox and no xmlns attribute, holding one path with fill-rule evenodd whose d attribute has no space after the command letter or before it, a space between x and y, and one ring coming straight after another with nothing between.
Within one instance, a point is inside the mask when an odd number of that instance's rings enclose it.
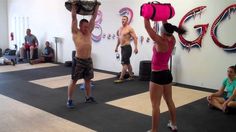
<instances>
[{"instance_id":1,"label":"woman in pink tank top and black shorts lifting pink bag","mask_svg":"<svg viewBox=\"0 0 236 132\"><path fill-rule=\"evenodd\" d=\"M160 117L160 102L163 95L170 113L170 121L167 124L172 131L177 131L176 108L172 99L172 74L169 70L168 62L175 46L174 31L184 34L182 28L163 22L161 36L156 34L150 25L150 21L144 18L144 25L147 33L155 42L152 56L152 73L149 84L150 99L152 103L152 129L157 132Z\"/></svg>"}]
</instances>

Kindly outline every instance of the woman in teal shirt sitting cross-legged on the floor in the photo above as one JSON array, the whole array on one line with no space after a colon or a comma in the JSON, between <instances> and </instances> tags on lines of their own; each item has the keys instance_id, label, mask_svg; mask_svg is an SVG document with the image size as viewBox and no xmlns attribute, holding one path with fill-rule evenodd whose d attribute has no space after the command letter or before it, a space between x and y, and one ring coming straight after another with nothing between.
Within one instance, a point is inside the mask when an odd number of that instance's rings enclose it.
<instances>
[{"instance_id":1,"label":"woman in teal shirt sitting cross-legged on the floor","mask_svg":"<svg viewBox=\"0 0 236 132\"><path fill-rule=\"evenodd\" d=\"M216 107L227 113L229 108L236 108L236 65L230 66L227 71L228 77L224 79L222 87L207 97L209 106ZM224 95L226 89L227 95Z\"/></svg>"}]
</instances>

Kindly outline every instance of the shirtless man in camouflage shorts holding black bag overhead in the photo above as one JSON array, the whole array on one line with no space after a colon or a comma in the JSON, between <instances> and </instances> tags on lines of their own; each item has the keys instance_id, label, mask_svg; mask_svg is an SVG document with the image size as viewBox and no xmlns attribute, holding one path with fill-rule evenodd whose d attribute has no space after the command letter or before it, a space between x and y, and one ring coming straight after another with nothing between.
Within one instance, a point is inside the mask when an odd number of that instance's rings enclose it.
<instances>
[{"instance_id":1,"label":"shirtless man in camouflage shorts holding black bag overhead","mask_svg":"<svg viewBox=\"0 0 236 132\"><path fill-rule=\"evenodd\" d=\"M74 93L76 82L79 79L84 79L85 89L86 89L86 102L95 102L94 98L91 96L91 79L94 77L93 74L93 62L91 59L91 49L92 49L92 31L95 26L95 19L97 16L98 8L100 4L97 4L95 12L92 15L90 21L82 19L79 22L79 29L77 27L77 17L76 10L77 6L72 4L72 36L76 49L76 67L72 72L72 77L70 84L68 86L68 100L67 107L74 108L75 105L72 101L72 94Z\"/></svg>"}]
</instances>

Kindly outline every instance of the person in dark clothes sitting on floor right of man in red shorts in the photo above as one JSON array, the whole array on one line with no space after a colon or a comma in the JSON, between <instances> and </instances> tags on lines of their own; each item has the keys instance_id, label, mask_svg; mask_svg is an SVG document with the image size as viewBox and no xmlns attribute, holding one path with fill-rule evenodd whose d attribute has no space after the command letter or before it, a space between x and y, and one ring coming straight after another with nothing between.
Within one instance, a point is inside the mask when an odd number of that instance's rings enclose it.
<instances>
[{"instance_id":1,"label":"person in dark clothes sitting on floor right of man in red shorts","mask_svg":"<svg viewBox=\"0 0 236 132\"><path fill-rule=\"evenodd\" d=\"M50 47L50 43L46 41L45 46L41 57L39 59L30 60L30 64L53 62L54 52L52 47Z\"/></svg>"}]
</instances>

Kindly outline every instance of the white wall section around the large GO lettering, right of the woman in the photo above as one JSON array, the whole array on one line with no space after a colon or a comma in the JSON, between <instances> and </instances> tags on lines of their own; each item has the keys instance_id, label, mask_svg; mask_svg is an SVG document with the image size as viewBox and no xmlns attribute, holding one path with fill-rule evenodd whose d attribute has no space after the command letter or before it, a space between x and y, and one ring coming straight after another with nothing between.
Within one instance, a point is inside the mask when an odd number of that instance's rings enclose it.
<instances>
[{"instance_id":1,"label":"white wall section around the large GO lettering, right of the woman","mask_svg":"<svg viewBox=\"0 0 236 132\"><path fill-rule=\"evenodd\" d=\"M181 6L181 2L174 3L175 7L179 9L177 13L181 14L175 16L174 23L177 24L187 11L202 5L207 6L206 10L200 17L195 18L196 21L190 20L187 29L193 29L193 24L209 23L207 34L202 42L202 48L191 49L188 52L178 45L174 57L176 82L213 89L218 89L221 86L222 80L226 77L227 68L236 64L236 53L227 53L216 46L210 36L210 29L220 13L229 5L235 4L235 2L235 0L224 2L220 0L185 1L188 6ZM236 42L235 35L233 35L236 31L232 30L232 27L236 26L235 23L236 14L234 13L231 15L231 19L222 22L219 26L218 35L222 43L233 45ZM188 40L196 39L196 36L191 35L191 33L188 34Z\"/></svg>"}]
</instances>

